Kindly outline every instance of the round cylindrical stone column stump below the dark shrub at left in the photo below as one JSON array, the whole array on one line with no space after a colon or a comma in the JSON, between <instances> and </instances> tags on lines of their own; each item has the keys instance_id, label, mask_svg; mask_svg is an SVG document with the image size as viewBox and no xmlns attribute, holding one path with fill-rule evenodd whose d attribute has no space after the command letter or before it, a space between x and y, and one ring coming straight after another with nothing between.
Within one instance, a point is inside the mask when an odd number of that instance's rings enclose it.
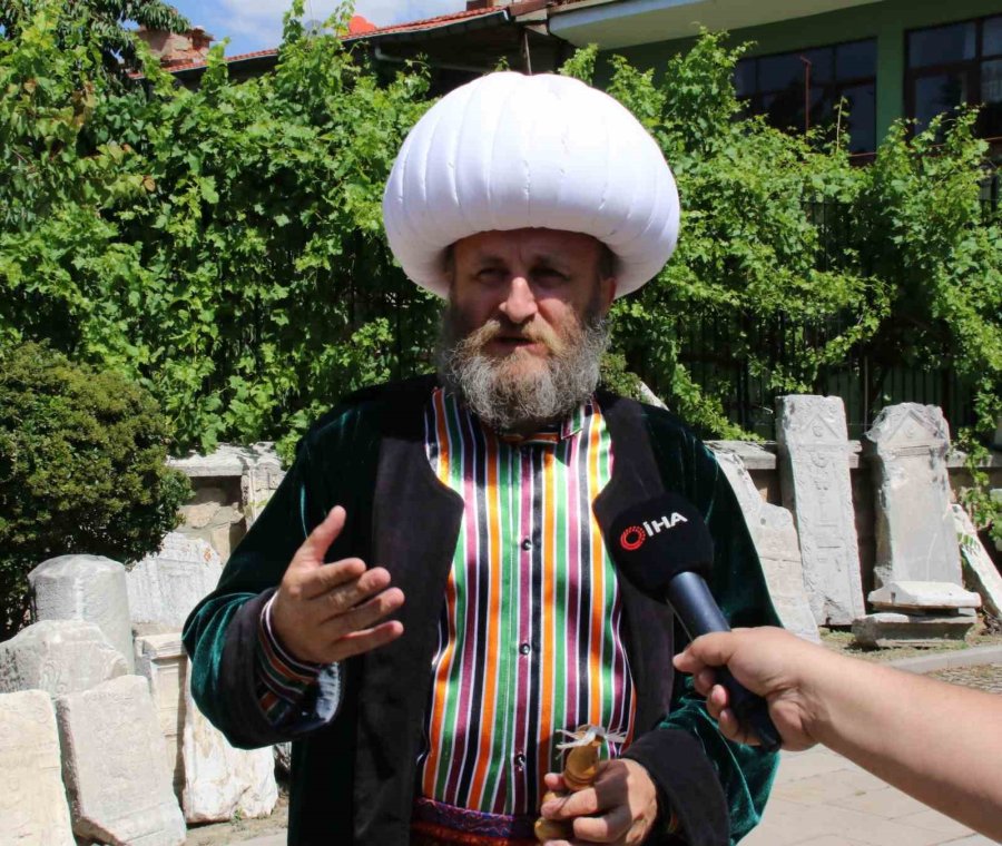
<instances>
[{"instance_id":1,"label":"round cylindrical stone column stump below the dark shrub at left","mask_svg":"<svg viewBox=\"0 0 1002 846\"><path fill-rule=\"evenodd\" d=\"M132 626L125 568L102 555L59 555L30 573L31 618L95 623L132 671Z\"/></svg>"}]
</instances>

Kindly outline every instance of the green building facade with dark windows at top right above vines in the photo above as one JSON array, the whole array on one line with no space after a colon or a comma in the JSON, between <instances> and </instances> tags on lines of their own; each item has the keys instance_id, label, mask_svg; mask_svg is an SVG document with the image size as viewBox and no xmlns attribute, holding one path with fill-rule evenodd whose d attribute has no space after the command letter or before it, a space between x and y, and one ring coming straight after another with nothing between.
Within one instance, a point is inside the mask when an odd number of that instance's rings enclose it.
<instances>
[{"instance_id":1,"label":"green building facade with dark windows at top right above vines","mask_svg":"<svg viewBox=\"0 0 1002 846\"><path fill-rule=\"evenodd\" d=\"M894 120L921 129L967 104L1002 140L1002 0L577 0L548 18L551 35L641 68L662 68L700 27L752 42L738 96L780 128L831 125L844 100L849 149L865 156Z\"/></svg>"}]
</instances>

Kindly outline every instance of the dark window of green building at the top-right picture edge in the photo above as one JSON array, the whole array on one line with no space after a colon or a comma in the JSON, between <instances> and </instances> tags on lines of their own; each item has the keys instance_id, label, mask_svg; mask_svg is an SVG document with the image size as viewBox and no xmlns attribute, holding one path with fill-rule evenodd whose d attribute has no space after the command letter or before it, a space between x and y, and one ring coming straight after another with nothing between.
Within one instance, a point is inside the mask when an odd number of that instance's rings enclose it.
<instances>
[{"instance_id":1,"label":"dark window of green building at the top-right picture edge","mask_svg":"<svg viewBox=\"0 0 1002 846\"><path fill-rule=\"evenodd\" d=\"M1002 136L1002 16L908 32L905 109L916 130L936 115L978 104L978 134Z\"/></svg>"}]
</instances>

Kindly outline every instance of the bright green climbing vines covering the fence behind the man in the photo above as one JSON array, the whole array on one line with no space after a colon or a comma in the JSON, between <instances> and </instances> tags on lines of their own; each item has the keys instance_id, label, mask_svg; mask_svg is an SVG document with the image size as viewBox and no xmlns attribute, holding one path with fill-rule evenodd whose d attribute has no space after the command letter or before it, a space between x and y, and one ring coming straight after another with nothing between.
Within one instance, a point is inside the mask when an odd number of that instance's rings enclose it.
<instances>
[{"instance_id":1,"label":"bright green climbing vines covering the fence behind the man","mask_svg":"<svg viewBox=\"0 0 1002 846\"><path fill-rule=\"evenodd\" d=\"M144 83L115 86L91 36L61 35L75 8L32 0L0 41L0 341L119 370L179 447L203 450L287 444L341 393L428 368L436 306L394 265L380 217L429 105L422 68L381 83L326 28L307 38L298 4L274 73L235 83L217 48L190 91L137 48ZM733 370L697 377L687 355L701 322L720 362L777 393L817 391L862 356L953 368L993 429L1002 230L979 201L972 118L914 139L897 126L856 167L839 131L743 118L739 52L705 35L657 78L611 62L609 91L665 150L684 210L672 260L617 303L607 373L639 374L707 434L740 434ZM564 72L595 65L582 50Z\"/></svg>"}]
</instances>

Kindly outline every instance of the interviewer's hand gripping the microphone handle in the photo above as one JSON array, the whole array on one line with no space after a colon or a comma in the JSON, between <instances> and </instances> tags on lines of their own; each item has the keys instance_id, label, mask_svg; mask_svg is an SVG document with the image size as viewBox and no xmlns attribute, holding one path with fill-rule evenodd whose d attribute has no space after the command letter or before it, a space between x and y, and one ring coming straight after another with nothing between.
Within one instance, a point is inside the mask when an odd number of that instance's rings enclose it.
<instances>
[{"instance_id":1,"label":"interviewer's hand gripping the microphone handle","mask_svg":"<svg viewBox=\"0 0 1002 846\"><path fill-rule=\"evenodd\" d=\"M783 748L799 751L817 742L812 725L823 702L815 696L813 675L824 672L833 660L838 657L782 629L760 628L704 634L675 657L675 667L692 673L696 690L706 697L707 710L726 737L755 745L758 739L740 728L728 707L727 690L715 683L714 668L726 665L741 685L766 699Z\"/></svg>"}]
</instances>

